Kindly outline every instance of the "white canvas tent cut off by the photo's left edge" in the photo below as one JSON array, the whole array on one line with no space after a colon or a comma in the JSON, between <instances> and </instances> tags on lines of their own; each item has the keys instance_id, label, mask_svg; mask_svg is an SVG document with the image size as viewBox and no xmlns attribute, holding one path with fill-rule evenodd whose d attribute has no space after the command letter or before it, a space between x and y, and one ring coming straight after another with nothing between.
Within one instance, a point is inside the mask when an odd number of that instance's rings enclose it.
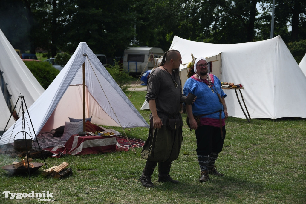
<instances>
[{"instance_id":1,"label":"white canvas tent cut off by the photo's left edge","mask_svg":"<svg viewBox=\"0 0 306 204\"><path fill-rule=\"evenodd\" d=\"M44 92L43 87L35 79L31 71L21 60L20 56L16 53L13 46L6 39L5 35L0 29L0 132L4 130L7 122L9 128L14 124L14 119L9 117L10 111L14 109L18 96L24 95L25 102L30 107L34 101ZM7 92L8 91L8 92ZM4 92L4 95L2 94ZM12 109L9 110L7 105L9 102ZM21 99L17 103L20 107ZM18 113L18 110L16 110ZM6 129L7 129L6 128Z\"/></svg>"}]
</instances>

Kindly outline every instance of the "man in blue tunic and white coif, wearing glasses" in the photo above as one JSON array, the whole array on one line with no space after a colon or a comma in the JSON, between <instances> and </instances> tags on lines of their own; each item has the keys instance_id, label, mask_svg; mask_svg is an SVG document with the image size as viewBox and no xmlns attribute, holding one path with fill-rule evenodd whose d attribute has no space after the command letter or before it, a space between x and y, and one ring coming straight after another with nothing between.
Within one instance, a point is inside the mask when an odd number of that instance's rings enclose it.
<instances>
[{"instance_id":1,"label":"man in blue tunic and white coif, wearing glasses","mask_svg":"<svg viewBox=\"0 0 306 204\"><path fill-rule=\"evenodd\" d=\"M205 58L196 59L196 72L184 85L184 95L196 95L196 101L186 104L190 128L196 132L197 157L201 169L199 182L209 180L209 175L223 176L215 167L218 154L222 151L225 138L225 120L228 117L220 80L209 74L209 65ZM194 116L199 118L199 123Z\"/></svg>"}]
</instances>

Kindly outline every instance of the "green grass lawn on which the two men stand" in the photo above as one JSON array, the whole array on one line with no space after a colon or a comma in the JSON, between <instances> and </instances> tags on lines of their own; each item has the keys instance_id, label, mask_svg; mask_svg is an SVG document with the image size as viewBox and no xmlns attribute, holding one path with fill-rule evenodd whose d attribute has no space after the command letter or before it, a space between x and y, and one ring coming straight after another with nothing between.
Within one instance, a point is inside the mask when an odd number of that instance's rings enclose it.
<instances>
[{"instance_id":1,"label":"green grass lawn on which the two men stand","mask_svg":"<svg viewBox=\"0 0 306 204\"><path fill-rule=\"evenodd\" d=\"M129 93L129 92L128 92ZM128 94L127 93L127 94ZM149 110L140 110L144 91L134 92L130 100L148 121ZM182 114L183 120L186 114ZM122 133L121 128L114 129ZM131 128L129 137L145 140L147 128ZM173 162L170 175L179 184L157 182L155 188L138 182L145 160L141 148L136 152L65 156L47 158L48 167L69 163L73 175L65 179L43 177L43 166L32 174L12 176L0 170L0 190L10 192L50 191L51 203L305 203L306 192L306 121L301 119L268 120L230 117L226 121L226 138L216 162L223 177L211 176L199 183L194 132L183 126L184 147ZM15 158L0 155L0 165ZM18 158L16 158L17 160ZM35 162L42 162L35 159ZM45 203L36 198L10 200L0 196L1 203Z\"/></svg>"}]
</instances>

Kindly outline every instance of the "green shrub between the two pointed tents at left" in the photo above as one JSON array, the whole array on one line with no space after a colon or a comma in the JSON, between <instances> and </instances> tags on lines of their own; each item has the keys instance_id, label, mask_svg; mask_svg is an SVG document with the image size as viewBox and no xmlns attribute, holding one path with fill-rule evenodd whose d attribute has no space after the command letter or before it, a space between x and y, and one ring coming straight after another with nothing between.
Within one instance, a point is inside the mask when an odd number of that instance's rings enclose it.
<instances>
[{"instance_id":1,"label":"green shrub between the two pointed tents at left","mask_svg":"<svg viewBox=\"0 0 306 204\"><path fill-rule=\"evenodd\" d=\"M49 62L24 61L24 64L27 65L29 70L44 89L48 88L50 83L59 73L59 71Z\"/></svg>"}]
</instances>

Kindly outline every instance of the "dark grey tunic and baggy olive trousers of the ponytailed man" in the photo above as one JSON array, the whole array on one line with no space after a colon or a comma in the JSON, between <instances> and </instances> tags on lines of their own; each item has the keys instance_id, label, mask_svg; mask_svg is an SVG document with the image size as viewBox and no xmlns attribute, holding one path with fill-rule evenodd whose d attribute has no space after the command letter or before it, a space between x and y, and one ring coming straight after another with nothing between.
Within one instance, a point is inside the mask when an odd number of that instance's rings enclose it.
<instances>
[{"instance_id":1,"label":"dark grey tunic and baggy olive trousers of the ponytailed man","mask_svg":"<svg viewBox=\"0 0 306 204\"><path fill-rule=\"evenodd\" d=\"M173 79L177 83L176 88ZM149 76L147 86L146 100L155 100L156 110L163 125L160 129L154 128L152 114L150 115L148 139L144 144L141 156L148 161L174 161L181 150L183 121L179 111L181 102L185 101L185 96L181 93L179 74L175 76L172 74L171 78L167 71L155 69ZM170 130L166 127L168 116L180 119L181 126L177 130Z\"/></svg>"}]
</instances>

